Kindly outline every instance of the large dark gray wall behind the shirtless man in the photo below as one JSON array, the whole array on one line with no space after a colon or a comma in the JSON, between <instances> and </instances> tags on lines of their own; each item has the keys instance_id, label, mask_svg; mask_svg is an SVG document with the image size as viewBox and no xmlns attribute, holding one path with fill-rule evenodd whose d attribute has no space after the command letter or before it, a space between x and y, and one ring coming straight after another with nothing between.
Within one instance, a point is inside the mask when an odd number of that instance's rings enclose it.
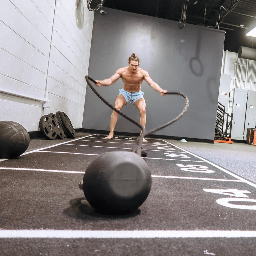
<instances>
[{"instance_id":1,"label":"large dark gray wall behind the shirtless man","mask_svg":"<svg viewBox=\"0 0 256 256\"><path fill-rule=\"evenodd\" d=\"M104 8L95 12L88 75L109 78L120 67L128 66L134 52L140 68L163 89L183 92L189 109L176 123L156 132L177 138L214 140L222 52L225 33L221 30L186 24L183 29L171 20L159 19ZM122 80L98 92L114 104ZM161 96L143 81L146 100L146 130L175 118L184 107L184 98ZM128 103L122 111L136 121L140 115ZM112 110L87 86L82 128L109 131ZM133 123L119 116L115 131L139 133Z\"/></svg>"}]
</instances>

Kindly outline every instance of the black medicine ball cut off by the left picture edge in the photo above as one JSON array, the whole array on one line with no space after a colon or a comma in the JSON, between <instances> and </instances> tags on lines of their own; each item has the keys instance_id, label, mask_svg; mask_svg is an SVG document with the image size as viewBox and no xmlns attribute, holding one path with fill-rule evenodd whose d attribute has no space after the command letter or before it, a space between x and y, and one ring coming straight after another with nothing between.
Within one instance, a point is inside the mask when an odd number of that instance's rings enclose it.
<instances>
[{"instance_id":1,"label":"black medicine ball cut off by the left picture edge","mask_svg":"<svg viewBox=\"0 0 256 256\"><path fill-rule=\"evenodd\" d=\"M29 146L29 134L20 124L13 121L0 122L0 158L15 158Z\"/></svg>"}]
</instances>

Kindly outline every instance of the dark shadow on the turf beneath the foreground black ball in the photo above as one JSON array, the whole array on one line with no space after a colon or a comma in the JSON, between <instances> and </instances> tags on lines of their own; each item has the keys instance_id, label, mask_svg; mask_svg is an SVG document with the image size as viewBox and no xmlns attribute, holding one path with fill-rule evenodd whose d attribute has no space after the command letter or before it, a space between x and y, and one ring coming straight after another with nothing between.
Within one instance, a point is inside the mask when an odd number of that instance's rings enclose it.
<instances>
[{"instance_id":1,"label":"dark shadow on the turf beneath the foreground black ball","mask_svg":"<svg viewBox=\"0 0 256 256\"><path fill-rule=\"evenodd\" d=\"M81 203L83 201L83 203ZM72 218L91 220L94 218L104 218L104 219L127 219L135 217L140 214L140 209L125 212L122 214L103 214L97 212L88 201L84 198L75 198L69 201L70 207L66 208L63 212Z\"/></svg>"}]
</instances>

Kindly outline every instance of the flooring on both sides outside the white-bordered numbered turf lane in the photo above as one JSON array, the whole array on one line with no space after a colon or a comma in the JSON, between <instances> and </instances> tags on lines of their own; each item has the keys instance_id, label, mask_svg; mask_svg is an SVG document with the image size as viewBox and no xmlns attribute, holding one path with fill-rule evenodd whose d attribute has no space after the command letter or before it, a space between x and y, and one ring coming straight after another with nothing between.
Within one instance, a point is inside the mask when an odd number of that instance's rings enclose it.
<instances>
[{"instance_id":1,"label":"flooring on both sides outside the white-bordered numbered turf lane","mask_svg":"<svg viewBox=\"0 0 256 256\"><path fill-rule=\"evenodd\" d=\"M89 133L77 133L77 138L87 136ZM46 139L31 140L27 151L47 147L68 141L71 139L49 141ZM204 143L204 142L180 142L178 140L166 140L191 153L208 159L233 173L256 182L256 146L245 143Z\"/></svg>"}]
</instances>

